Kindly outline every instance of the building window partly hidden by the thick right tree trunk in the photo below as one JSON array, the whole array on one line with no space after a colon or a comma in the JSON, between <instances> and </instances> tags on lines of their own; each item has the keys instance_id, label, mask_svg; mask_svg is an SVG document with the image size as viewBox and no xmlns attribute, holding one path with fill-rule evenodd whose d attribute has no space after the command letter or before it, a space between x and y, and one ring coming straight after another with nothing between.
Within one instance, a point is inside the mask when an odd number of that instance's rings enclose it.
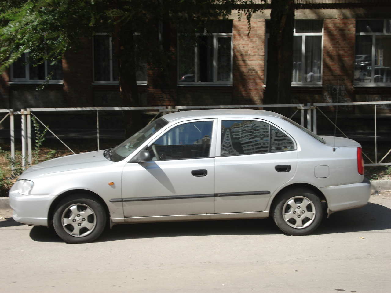
<instances>
[{"instance_id":1,"label":"building window partly hidden by the thick right tree trunk","mask_svg":"<svg viewBox=\"0 0 391 293\"><path fill-rule=\"evenodd\" d=\"M266 22L267 40L268 23L269 21ZM322 84L323 20L296 20L293 35L292 85ZM265 59L267 60L267 56Z\"/></svg>"}]
</instances>

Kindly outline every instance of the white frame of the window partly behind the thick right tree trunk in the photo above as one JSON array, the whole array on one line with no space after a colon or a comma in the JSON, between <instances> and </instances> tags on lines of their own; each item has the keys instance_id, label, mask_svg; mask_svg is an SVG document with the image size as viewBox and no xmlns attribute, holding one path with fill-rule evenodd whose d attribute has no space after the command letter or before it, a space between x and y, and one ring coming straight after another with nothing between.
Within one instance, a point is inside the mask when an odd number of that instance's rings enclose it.
<instances>
[{"instance_id":1,"label":"white frame of the window partly behind the thick right tree trunk","mask_svg":"<svg viewBox=\"0 0 391 293\"><path fill-rule=\"evenodd\" d=\"M297 19L297 20L320 20L320 19ZM323 24L323 19L322 24ZM267 20L266 20L267 21ZM295 20L296 21L296 20ZM267 50L268 50L268 41L269 41L269 36L270 34L267 33L265 34L265 84L266 84L266 73L267 73ZM305 38L306 36L321 36L322 41L321 41L321 66L320 66L320 72L321 72L321 81L320 82L293 82L291 83L291 86L321 86L322 81L323 81L323 25L322 25L322 32L296 32L296 28L293 28L293 38L295 36L301 36L301 64L305 64ZM293 50L293 48L292 48ZM304 76L304 71L305 66L302 66L302 73ZM292 75L293 75L293 67L292 67ZM293 78L292 78L293 80Z\"/></svg>"}]
</instances>

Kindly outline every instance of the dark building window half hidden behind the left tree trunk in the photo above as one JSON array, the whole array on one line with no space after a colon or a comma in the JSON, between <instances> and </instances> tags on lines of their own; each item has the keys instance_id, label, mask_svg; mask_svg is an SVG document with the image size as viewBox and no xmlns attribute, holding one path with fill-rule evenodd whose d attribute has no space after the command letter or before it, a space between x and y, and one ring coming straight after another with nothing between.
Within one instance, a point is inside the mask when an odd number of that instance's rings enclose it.
<instances>
[{"instance_id":1,"label":"dark building window half hidden behind the left tree trunk","mask_svg":"<svg viewBox=\"0 0 391 293\"><path fill-rule=\"evenodd\" d=\"M95 34L93 38L94 82L118 83L118 59L113 39L106 33ZM136 71L137 84L147 84L147 66Z\"/></svg>"}]
</instances>

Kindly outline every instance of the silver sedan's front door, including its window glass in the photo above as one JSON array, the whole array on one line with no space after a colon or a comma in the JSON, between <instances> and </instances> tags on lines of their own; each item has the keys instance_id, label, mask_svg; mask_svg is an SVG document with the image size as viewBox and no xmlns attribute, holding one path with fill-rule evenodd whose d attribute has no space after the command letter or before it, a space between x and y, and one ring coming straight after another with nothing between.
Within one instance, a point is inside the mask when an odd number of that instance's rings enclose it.
<instances>
[{"instance_id":1,"label":"silver sedan's front door, including its window glass","mask_svg":"<svg viewBox=\"0 0 391 293\"><path fill-rule=\"evenodd\" d=\"M147 146L152 161L127 164L125 217L213 213L216 124L213 119L176 124Z\"/></svg>"}]
</instances>

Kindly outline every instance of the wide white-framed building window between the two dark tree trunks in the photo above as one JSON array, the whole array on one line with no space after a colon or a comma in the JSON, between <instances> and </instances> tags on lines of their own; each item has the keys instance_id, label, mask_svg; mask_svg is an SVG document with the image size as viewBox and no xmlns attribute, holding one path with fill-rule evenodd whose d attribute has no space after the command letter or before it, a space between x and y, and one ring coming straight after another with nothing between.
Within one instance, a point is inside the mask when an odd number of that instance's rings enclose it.
<instances>
[{"instance_id":1,"label":"wide white-framed building window between the two dark tree trunks","mask_svg":"<svg viewBox=\"0 0 391 293\"><path fill-rule=\"evenodd\" d=\"M178 84L232 84L232 21L209 21L195 37L178 36Z\"/></svg>"}]
</instances>

